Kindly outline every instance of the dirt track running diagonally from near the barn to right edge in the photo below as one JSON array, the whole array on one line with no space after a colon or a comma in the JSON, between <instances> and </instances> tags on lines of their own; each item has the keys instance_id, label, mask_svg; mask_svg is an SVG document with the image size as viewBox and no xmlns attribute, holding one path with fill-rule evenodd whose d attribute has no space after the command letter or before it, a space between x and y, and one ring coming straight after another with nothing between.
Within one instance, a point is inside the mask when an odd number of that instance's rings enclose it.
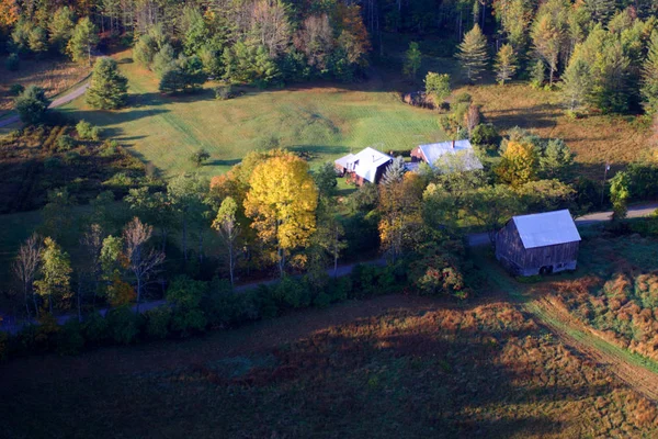
<instances>
[{"instance_id":1,"label":"dirt track running diagonally from near the barn to right edge","mask_svg":"<svg viewBox=\"0 0 658 439\"><path fill-rule=\"evenodd\" d=\"M477 255L496 288L520 302L521 308L546 326L566 346L595 361L648 399L658 403L658 364L627 349L605 341L600 335L571 317L563 306L543 296L533 295L532 285L509 278L484 255ZM485 260L486 258L486 260Z\"/></svg>"}]
</instances>

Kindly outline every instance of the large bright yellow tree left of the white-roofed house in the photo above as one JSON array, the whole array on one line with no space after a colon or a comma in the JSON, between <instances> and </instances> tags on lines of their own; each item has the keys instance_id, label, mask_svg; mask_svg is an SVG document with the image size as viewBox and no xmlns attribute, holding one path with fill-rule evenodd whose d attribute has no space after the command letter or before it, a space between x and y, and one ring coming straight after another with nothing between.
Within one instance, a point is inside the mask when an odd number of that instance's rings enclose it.
<instances>
[{"instance_id":1,"label":"large bright yellow tree left of the white-roofed house","mask_svg":"<svg viewBox=\"0 0 658 439\"><path fill-rule=\"evenodd\" d=\"M274 248L272 259L283 275L286 257L315 232L318 190L306 161L292 154L259 164L249 183L245 213L260 240Z\"/></svg>"}]
</instances>

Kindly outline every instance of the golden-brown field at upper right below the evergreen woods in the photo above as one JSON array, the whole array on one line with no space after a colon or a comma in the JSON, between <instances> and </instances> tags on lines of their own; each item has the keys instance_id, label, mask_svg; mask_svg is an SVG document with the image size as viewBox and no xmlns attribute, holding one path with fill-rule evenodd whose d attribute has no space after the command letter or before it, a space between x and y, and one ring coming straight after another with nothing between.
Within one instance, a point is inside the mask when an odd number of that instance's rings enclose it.
<instances>
[{"instance_id":1,"label":"golden-brown field at upper right below the evergreen woods","mask_svg":"<svg viewBox=\"0 0 658 439\"><path fill-rule=\"evenodd\" d=\"M564 139L576 153L576 161L588 176L602 178L603 164L614 168L637 160L648 148L650 132L638 116L591 114L582 119L565 115L558 91L535 90L525 83L462 87L480 104L488 122L503 132L514 126L541 137Z\"/></svg>"}]
</instances>

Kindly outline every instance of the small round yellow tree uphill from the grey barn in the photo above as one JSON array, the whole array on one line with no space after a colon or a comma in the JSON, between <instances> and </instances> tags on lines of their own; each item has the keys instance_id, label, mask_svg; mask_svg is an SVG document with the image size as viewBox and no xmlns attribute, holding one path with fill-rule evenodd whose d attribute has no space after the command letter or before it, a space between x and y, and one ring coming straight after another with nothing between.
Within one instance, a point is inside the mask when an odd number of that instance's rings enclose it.
<instances>
[{"instance_id":1,"label":"small round yellow tree uphill from the grey barn","mask_svg":"<svg viewBox=\"0 0 658 439\"><path fill-rule=\"evenodd\" d=\"M501 158L496 175L502 183L517 188L536 178L538 157L533 144L509 142Z\"/></svg>"}]
</instances>

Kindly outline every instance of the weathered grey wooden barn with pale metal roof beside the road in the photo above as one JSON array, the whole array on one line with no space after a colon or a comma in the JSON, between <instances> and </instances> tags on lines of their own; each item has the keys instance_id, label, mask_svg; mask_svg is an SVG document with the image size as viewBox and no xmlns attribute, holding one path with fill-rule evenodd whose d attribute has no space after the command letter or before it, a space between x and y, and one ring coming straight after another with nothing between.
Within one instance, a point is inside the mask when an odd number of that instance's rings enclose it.
<instances>
[{"instance_id":1,"label":"weathered grey wooden barn with pale metal roof beside the road","mask_svg":"<svg viewBox=\"0 0 658 439\"><path fill-rule=\"evenodd\" d=\"M575 270L579 243L567 210L514 216L496 235L496 258L514 275Z\"/></svg>"}]
</instances>

